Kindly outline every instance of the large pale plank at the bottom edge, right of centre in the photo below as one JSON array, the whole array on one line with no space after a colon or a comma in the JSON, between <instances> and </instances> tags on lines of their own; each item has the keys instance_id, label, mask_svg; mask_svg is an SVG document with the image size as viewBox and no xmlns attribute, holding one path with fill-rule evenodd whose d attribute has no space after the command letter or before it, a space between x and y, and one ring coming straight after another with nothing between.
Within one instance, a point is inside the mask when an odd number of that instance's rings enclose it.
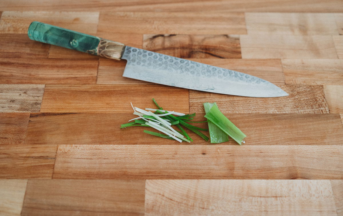
<instances>
[{"instance_id":1,"label":"large pale plank at the bottom edge, right of centre","mask_svg":"<svg viewBox=\"0 0 343 216\"><path fill-rule=\"evenodd\" d=\"M336 215L329 180L147 180L145 215Z\"/></svg>"}]
</instances>

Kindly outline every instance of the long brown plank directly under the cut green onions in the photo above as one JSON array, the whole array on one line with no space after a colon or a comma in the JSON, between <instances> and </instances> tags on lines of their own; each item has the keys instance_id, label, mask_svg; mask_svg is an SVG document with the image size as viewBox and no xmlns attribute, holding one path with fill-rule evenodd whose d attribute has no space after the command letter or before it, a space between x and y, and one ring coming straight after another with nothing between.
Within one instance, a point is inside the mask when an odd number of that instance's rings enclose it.
<instances>
[{"instance_id":1,"label":"long brown plank directly under the cut green onions","mask_svg":"<svg viewBox=\"0 0 343 216\"><path fill-rule=\"evenodd\" d=\"M167 107L165 107L167 109ZM204 120L197 113L195 121ZM247 137L247 145L343 145L343 129L338 114L226 114ZM120 124L134 118L131 113L32 113L26 144L116 144L177 145L177 141L143 133L152 128ZM207 128L207 123L192 123ZM258 125L258 127L256 127ZM272 128L272 130L270 130ZM265 133L268 131L268 133ZM318 133L318 131L321 131ZM187 130L192 145L208 145L200 136ZM209 136L208 132L204 132ZM182 143L188 145L188 143ZM237 145L230 139L222 145Z\"/></svg>"}]
</instances>

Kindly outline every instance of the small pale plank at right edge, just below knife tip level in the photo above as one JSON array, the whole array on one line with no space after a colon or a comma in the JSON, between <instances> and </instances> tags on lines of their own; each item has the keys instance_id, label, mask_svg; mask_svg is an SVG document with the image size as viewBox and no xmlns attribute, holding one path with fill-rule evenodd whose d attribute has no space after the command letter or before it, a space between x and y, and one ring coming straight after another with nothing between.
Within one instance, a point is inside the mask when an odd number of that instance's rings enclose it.
<instances>
[{"instance_id":1,"label":"small pale plank at right edge, just below knife tip level","mask_svg":"<svg viewBox=\"0 0 343 216\"><path fill-rule=\"evenodd\" d=\"M330 113L343 113L343 85L325 85L324 93Z\"/></svg>"}]
</instances>

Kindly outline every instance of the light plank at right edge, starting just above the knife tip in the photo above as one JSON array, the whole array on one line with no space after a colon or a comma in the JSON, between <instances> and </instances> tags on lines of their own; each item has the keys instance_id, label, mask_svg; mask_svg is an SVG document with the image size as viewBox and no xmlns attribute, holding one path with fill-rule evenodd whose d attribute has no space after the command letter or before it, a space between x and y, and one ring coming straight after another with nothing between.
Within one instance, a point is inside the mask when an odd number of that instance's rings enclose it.
<instances>
[{"instance_id":1,"label":"light plank at right edge, starting just above the knife tip","mask_svg":"<svg viewBox=\"0 0 343 216\"><path fill-rule=\"evenodd\" d=\"M282 59L286 84L343 85L341 59Z\"/></svg>"}]
</instances>

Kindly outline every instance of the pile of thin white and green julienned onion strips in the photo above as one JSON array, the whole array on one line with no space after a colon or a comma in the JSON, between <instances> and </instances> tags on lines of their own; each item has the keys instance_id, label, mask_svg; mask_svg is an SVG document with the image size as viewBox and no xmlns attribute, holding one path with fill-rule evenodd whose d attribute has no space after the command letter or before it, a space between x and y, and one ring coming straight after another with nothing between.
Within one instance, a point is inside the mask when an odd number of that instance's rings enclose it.
<instances>
[{"instance_id":1,"label":"pile of thin white and green julienned onion strips","mask_svg":"<svg viewBox=\"0 0 343 216\"><path fill-rule=\"evenodd\" d=\"M152 131L147 131L147 130L144 130L143 132L151 134L151 135L167 138L167 139L176 140L178 142L182 142L182 141L192 142L193 140L186 133L186 131L182 128L181 125L183 125L184 127L188 128L189 130L201 136L204 140L207 141L209 139L206 135L204 135L203 133L199 131L199 130L207 131L207 129L195 127L189 123L186 123L186 121L190 123L197 123L197 122L190 121L193 119L191 117L196 115L195 113L185 115L184 113L180 113L180 112L166 111L166 110L163 110L163 108L160 107L156 103L155 99L153 99L153 102L156 105L157 109L146 108L145 110L143 110L138 107L133 107L131 103L131 106L134 111L133 114L138 117L129 120L129 121L134 121L134 122L122 124L120 128L126 128L126 127L131 127L131 126L151 127L158 130L159 132L157 133L157 132L152 132ZM180 131L175 130L173 127L171 127L171 125L175 125L178 129L180 129ZM161 133L164 133L164 134L161 134Z\"/></svg>"}]
</instances>

